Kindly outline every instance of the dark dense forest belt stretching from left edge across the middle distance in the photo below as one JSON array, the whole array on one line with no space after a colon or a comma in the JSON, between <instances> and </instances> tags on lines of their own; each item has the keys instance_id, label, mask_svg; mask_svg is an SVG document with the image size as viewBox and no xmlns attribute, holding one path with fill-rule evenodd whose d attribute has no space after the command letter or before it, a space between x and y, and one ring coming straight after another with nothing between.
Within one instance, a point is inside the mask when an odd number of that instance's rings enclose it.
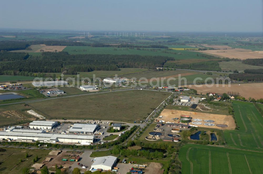
<instances>
[{"instance_id":1,"label":"dark dense forest belt stretching from left edge across the middle distance","mask_svg":"<svg viewBox=\"0 0 263 174\"><path fill-rule=\"evenodd\" d=\"M1 75L29 75L31 73L77 74L94 70L119 70L119 68L163 67L173 58L139 55L69 55L67 52L44 52L41 56L2 51Z\"/></svg>"}]
</instances>

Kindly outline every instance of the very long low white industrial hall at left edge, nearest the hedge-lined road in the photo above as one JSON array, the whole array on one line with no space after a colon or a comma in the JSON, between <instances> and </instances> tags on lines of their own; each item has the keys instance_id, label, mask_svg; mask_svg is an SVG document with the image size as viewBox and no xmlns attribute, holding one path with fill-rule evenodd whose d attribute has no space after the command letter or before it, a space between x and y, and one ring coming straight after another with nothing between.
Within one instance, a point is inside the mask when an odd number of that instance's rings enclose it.
<instances>
[{"instance_id":1,"label":"very long low white industrial hall at left edge, nearest the hedge-lined road","mask_svg":"<svg viewBox=\"0 0 263 174\"><path fill-rule=\"evenodd\" d=\"M16 129L14 129L16 130ZM29 132L0 132L0 138L11 139L23 142L39 141L43 143L80 143L89 145L94 142L95 137L91 135L67 135L67 134L49 134L49 133L29 133Z\"/></svg>"}]
</instances>

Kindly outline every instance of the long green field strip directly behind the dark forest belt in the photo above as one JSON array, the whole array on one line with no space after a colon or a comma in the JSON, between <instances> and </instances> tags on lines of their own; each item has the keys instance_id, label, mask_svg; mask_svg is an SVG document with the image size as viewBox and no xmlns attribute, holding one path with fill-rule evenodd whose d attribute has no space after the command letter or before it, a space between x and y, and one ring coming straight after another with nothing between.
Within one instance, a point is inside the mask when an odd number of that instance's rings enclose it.
<instances>
[{"instance_id":1,"label":"long green field strip directly behind the dark forest belt","mask_svg":"<svg viewBox=\"0 0 263 174\"><path fill-rule=\"evenodd\" d=\"M194 47L193 47L194 48ZM111 55L141 55L141 56L168 56L175 59L201 59L202 53L191 51L176 51L166 50L159 48L140 48L140 50L129 48L116 48L116 47L90 47L90 46L67 46L64 48L65 52L69 54L111 54ZM181 53L181 54L178 54Z\"/></svg>"}]
</instances>

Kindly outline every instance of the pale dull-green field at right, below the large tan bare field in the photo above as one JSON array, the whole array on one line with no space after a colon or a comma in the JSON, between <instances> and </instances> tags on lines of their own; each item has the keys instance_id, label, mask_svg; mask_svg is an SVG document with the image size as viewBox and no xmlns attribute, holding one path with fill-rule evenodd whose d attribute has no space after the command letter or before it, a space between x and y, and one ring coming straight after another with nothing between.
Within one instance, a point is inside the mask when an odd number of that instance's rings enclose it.
<instances>
[{"instance_id":1,"label":"pale dull-green field at right, below the large tan bare field","mask_svg":"<svg viewBox=\"0 0 263 174\"><path fill-rule=\"evenodd\" d=\"M263 69L261 66L253 66L242 63L241 61L228 61L228 62L219 62L219 67L222 71L234 71L235 69L239 71L244 71L245 69Z\"/></svg>"}]
</instances>

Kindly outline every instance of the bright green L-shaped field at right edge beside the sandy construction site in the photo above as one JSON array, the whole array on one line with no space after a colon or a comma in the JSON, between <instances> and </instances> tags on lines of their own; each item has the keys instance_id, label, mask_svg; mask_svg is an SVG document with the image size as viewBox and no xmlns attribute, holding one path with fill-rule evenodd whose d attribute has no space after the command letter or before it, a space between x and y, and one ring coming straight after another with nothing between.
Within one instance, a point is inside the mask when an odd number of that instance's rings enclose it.
<instances>
[{"instance_id":1,"label":"bright green L-shaped field at right edge beside the sandy construction site","mask_svg":"<svg viewBox=\"0 0 263 174\"><path fill-rule=\"evenodd\" d=\"M263 117L253 103L234 101L239 130L225 130L227 145L233 148L263 151Z\"/></svg>"}]
</instances>

